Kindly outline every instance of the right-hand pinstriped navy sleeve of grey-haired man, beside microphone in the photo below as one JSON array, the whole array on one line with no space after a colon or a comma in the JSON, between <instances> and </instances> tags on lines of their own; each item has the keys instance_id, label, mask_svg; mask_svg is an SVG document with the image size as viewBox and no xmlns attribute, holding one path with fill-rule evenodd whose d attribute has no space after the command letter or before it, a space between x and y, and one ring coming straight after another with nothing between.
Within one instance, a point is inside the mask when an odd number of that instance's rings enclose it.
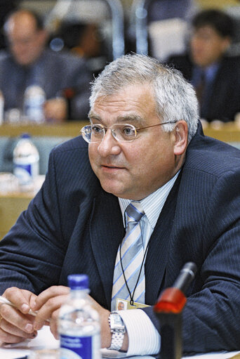
<instances>
[{"instance_id":1,"label":"right-hand pinstriped navy sleeve of grey-haired man, beside microphone","mask_svg":"<svg viewBox=\"0 0 240 359\"><path fill-rule=\"evenodd\" d=\"M204 261L182 312L185 353L240 348L239 206L240 173L233 170L215 181L208 206L203 209L206 213L201 230ZM202 253L196 254L196 258ZM160 329L153 308L144 310Z\"/></svg>"}]
</instances>

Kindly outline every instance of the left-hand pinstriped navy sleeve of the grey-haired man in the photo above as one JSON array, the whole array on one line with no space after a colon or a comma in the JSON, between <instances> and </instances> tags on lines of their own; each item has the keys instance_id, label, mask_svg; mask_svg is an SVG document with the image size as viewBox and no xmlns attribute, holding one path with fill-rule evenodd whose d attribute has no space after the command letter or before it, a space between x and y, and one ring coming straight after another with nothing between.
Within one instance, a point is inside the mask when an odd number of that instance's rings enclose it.
<instances>
[{"instance_id":1,"label":"left-hand pinstriped navy sleeve of the grey-haired man","mask_svg":"<svg viewBox=\"0 0 240 359\"><path fill-rule=\"evenodd\" d=\"M39 294L58 283L65 245L53 157L43 187L0 242L1 293L16 286Z\"/></svg>"}]
</instances>

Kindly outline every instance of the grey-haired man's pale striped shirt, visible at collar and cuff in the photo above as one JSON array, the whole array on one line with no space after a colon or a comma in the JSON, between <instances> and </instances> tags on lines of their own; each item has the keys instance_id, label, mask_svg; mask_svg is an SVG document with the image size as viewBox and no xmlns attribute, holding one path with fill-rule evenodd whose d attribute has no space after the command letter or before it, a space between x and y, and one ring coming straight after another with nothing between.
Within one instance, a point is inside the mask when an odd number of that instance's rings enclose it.
<instances>
[{"instance_id":1,"label":"grey-haired man's pale striped shirt, visible at collar and cuff","mask_svg":"<svg viewBox=\"0 0 240 359\"><path fill-rule=\"evenodd\" d=\"M165 185L140 201L142 209L145 211L145 216L142 216L140 220L143 245L145 248L156 226L156 221L164 207L169 192L173 188L179 174L180 171ZM119 198L124 226L126 226L124 213L130 202L131 200ZM144 311L130 309L128 311L119 311L118 313L124 320L128 332L127 355L147 355L159 352L161 343L159 332Z\"/></svg>"}]
</instances>

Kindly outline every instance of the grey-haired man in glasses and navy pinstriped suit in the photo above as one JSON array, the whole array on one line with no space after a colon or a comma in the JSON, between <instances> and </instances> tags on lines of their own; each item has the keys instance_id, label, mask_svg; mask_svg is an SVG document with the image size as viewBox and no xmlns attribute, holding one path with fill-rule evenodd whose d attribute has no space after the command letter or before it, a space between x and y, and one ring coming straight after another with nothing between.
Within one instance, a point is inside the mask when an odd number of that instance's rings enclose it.
<instances>
[{"instance_id":1,"label":"grey-haired man in glasses and navy pinstriped suit","mask_svg":"<svg viewBox=\"0 0 240 359\"><path fill-rule=\"evenodd\" d=\"M43 187L0 242L0 292L17 307L1 305L0 341L32 338L46 319L57 337L67 275L86 273L102 346L158 353L153 305L193 261L198 270L182 313L185 353L239 348L239 150L204 136L192 85L154 58L114 60L95 79L90 100L83 138L51 152ZM126 333L116 344L108 317L116 308L124 211L133 204L143 211L144 278L128 282L130 292L123 282L119 300L147 307L119 311ZM133 290L142 284L138 300ZM29 308L39 311L36 318L26 315Z\"/></svg>"}]
</instances>

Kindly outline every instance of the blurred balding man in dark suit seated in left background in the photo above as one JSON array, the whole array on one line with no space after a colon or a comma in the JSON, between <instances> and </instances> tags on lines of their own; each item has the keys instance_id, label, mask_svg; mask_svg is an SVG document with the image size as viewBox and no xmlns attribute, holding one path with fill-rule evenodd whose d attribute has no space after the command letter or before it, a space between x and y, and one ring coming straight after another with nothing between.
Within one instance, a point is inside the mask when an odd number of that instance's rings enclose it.
<instances>
[{"instance_id":1,"label":"blurred balding man in dark suit seated in left background","mask_svg":"<svg viewBox=\"0 0 240 359\"><path fill-rule=\"evenodd\" d=\"M5 110L22 110L25 89L39 85L46 93L46 119L85 119L91 74L84 58L47 49L48 34L32 11L11 13L4 29L8 51L0 57L0 89Z\"/></svg>"}]
</instances>

